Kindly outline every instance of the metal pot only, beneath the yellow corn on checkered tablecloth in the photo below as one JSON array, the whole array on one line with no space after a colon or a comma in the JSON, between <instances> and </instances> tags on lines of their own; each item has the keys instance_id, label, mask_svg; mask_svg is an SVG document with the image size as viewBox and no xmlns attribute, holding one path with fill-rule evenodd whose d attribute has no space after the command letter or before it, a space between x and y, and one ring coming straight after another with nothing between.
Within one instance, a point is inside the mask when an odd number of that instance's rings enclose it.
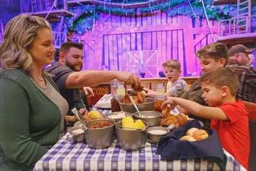
<instances>
[{"instance_id":1,"label":"metal pot only, beneath the yellow corn on checkered tablecloth","mask_svg":"<svg viewBox=\"0 0 256 171\"><path fill-rule=\"evenodd\" d=\"M145 147L148 124L145 121L142 122L146 127L140 130L124 130L122 122L116 123L116 137L120 147L125 151L138 151Z\"/></svg>"}]
</instances>

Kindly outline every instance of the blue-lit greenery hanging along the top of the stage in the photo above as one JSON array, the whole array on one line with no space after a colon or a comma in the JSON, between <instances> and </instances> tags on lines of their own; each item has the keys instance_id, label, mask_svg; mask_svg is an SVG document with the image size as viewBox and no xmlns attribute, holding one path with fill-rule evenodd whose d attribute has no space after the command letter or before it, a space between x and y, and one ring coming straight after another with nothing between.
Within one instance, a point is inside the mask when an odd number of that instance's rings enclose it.
<instances>
[{"instance_id":1,"label":"blue-lit greenery hanging along the top of the stage","mask_svg":"<svg viewBox=\"0 0 256 171\"><path fill-rule=\"evenodd\" d=\"M103 1L103 0L102 0ZM129 0L127 3L141 3L147 0ZM108 3L123 3L123 0L107 0ZM126 1L125 1L126 3ZM196 17L205 18L204 8L200 0L190 0L191 6L195 11ZM212 0L204 0L205 9L209 19L222 20L230 19L232 13L236 11L236 4L227 4L224 6L212 6ZM188 0L170 0L166 3L157 4L147 8L127 9L127 8L111 8L109 6L97 5L95 7L95 16L93 17L92 5L79 5L76 7L70 7L69 10L75 13L75 17L65 17L64 23L66 31L76 31L77 34L84 34L86 31L91 30L93 27L93 19L99 19L99 13L111 13L112 15L134 15L136 10L140 10L141 13L151 13L155 10L161 10L166 12L168 17L175 15L187 15L189 17L195 17L191 10ZM53 27L58 25L52 24Z\"/></svg>"}]
</instances>

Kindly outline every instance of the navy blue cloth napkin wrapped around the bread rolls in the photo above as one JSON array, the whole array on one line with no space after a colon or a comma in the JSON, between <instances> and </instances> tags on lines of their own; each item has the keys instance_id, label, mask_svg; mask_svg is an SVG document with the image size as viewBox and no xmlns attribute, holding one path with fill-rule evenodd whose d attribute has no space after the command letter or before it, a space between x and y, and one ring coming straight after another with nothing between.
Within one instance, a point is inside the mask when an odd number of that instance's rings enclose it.
<instances>
[{"instance_id":1,"label":"navy blue cloth napkin wrapped around the bread rolls","mask_svg":"<svg viewBox=\"0 0 256 171\"><path fill-rule=\"evenodd\" d=\"M156 154L161 160L205 158L215 163L223 163L223 148L216 130L208 130L208 138L196 142L180 141L190 128L202 129L198 121L189 121L160 138Z\"/></svg>"}]
</instances>

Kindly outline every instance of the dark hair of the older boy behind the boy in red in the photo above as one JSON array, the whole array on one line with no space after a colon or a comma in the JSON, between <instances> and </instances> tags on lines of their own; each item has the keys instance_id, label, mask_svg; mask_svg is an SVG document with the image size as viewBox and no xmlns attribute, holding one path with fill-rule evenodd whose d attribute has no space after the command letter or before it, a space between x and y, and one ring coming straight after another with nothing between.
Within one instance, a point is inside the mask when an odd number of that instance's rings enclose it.
<instances>
[{"instance_id":1,"label":"dark hair of the older boy behind the boy in red","mask_svg":"<svg viewBox=\"0 0 256 171\"><path fill-rule=\"evenodd\" d=\"M223 43L211 43L196 52L196 57L198 59L205 59L205 57L210 57L216 62L221 58L226 59L224 66L226 66L228 61L228 48Z\"/></svg>"}]
</instances>

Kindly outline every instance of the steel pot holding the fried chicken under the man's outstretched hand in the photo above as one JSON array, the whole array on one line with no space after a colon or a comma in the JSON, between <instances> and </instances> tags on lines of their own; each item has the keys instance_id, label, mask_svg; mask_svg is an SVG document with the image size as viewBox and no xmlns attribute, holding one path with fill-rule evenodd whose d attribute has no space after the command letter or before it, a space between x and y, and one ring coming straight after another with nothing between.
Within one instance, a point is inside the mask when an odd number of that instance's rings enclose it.
<instances>
[{"instance_id":1,"label":"steel pot holding the fried chicken under the man's outstretched hand","mask_svg":"<svg viewBox=\"0 0 256 171\"><path fill-rule=\"evenodd\" d=\"M152 98L145 98L144 103L136 104L140 111L153 111L155 100ZM120 108L124 112L129 112L131 114L137 112L134 105L127 103L120 103Z\"/></svg>"}]
</instances>

